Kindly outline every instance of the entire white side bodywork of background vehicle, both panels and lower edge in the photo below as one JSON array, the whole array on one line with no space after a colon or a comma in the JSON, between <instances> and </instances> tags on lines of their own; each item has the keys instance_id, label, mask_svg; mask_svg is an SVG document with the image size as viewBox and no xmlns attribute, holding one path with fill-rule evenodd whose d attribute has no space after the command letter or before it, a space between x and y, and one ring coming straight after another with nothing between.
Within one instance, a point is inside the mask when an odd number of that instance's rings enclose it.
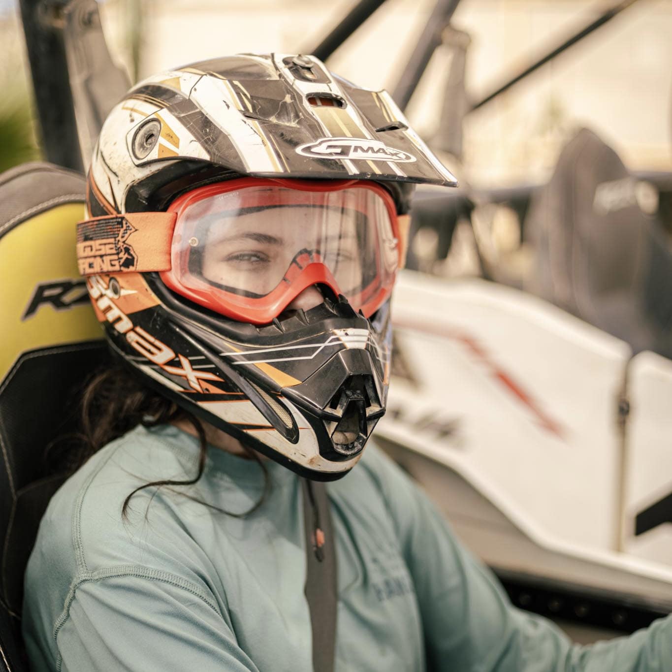
<instances>
[{"instance_id":1,"label":"entire white side bodywork of background vehicle, both panels and lower edge","mask_svg":"<svg viewBox=\"0 0 672 672\"><path fill-rule=\"evenodd\" d=\"M672 362L482 280L405 272L392 310L376 436L468 546L501 569L672 599L672 524L634 536L672 493Z\"/></svg>"}]
</instances>

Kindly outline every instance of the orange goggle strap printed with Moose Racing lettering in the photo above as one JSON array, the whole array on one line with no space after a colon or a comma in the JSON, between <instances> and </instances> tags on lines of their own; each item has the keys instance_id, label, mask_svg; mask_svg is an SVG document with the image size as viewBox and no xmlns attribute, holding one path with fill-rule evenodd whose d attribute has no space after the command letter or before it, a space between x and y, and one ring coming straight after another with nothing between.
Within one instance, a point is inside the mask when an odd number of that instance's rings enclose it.
<instances>
[{"instance_id":1,"label":"orange goggle strap printed with Moose Racing lettering","mask_svg":"<svg viewBox=\"0 0 672 672\"><path fill-rule=\"evenodd\" d=\"M129 212L77 224L77 265L83 276L167 271L177 213Z\"/></svg>"}]
</instances>

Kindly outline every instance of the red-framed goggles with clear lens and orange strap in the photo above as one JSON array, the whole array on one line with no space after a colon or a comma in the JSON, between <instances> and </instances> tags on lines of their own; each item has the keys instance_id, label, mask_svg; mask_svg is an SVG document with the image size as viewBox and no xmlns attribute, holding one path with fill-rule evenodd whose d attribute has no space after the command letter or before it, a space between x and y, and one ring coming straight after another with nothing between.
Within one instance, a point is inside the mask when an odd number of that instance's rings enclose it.
<instances>
[{"instance_id":1,"label":"red-framed goggles with clear lens and orange strap","mask_svg":"<svg viewBox=\"0 0 672 672\"><path fill-rule=\"evenodd\" d=\"M253 324L271 322L316 284L370 317L390 296L405 247L392 196L360 180L245 177L183 194L167 212L78 227L84 275L159 271L177 294ZM110 259L94 254L101 230L118 253L107 271Z\"/></svg>"}]
</instances>

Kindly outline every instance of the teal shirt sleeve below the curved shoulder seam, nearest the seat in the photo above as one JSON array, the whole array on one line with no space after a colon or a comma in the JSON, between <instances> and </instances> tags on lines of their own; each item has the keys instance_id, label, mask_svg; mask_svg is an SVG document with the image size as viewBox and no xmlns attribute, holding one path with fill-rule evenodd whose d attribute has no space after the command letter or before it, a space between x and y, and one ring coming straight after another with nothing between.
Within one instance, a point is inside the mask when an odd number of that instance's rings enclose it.
<instances>
[{"instance_id":1,"label":"teal shirt sleeve below the curved shoulder seam, nearest the seat","mask_svg":"<svg viewBox=\"0 0 672 672\"><path fill-rule=\"evenodd\" d=\"M165 577L82 583L56 644L69 672L257 671L207 596Z\"/></svg>"}]
</instances>

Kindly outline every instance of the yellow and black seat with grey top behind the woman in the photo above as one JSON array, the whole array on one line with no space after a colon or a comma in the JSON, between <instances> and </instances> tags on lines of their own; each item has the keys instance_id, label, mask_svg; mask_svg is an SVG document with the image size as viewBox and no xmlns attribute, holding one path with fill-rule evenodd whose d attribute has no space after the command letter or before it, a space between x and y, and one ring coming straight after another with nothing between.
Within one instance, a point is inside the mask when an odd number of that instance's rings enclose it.
<instances>
[{"instance_id":1,"label":"yellow and black seat with grey top behind the woman","mask_svg":"<svg viewBox=\"0 0 672 672\"><path fill-rule=\"evenodd\" d=\"M82 175L30 163L0 175L0 672L28 669L24 571L67 473L85 378L109 355L77 272Z\"/></svg>"}]
</instances>

